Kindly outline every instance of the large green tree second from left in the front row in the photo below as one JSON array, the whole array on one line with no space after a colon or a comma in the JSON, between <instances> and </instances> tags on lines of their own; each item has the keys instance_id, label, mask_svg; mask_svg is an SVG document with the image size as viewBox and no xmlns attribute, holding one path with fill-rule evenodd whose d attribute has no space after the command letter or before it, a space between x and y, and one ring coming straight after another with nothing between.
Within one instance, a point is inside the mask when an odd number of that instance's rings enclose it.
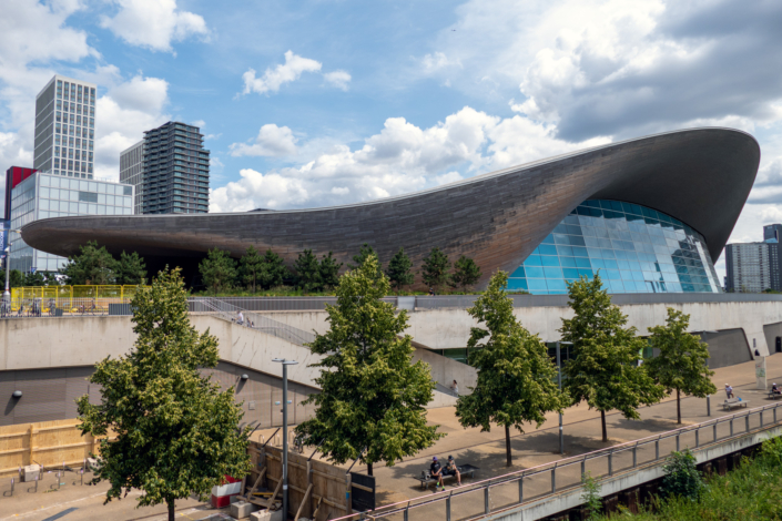
<instances>
[{"instance_id":1,"label":"large green tree second from left in the front row","mask_svg":"<svg viewBox=\"0 0 782 521\"><path fill-rule=\"evenodd\" d=\"M377 265L370 255L339 278L337 303L326 306L331 327L309 345L323 356L311 366L321 368L321 392L305 400L315 403L315 417L296 428L332 461L360 458L370 476L375 462L392 467L444 436L427 426L435 382L427 365L413 364L407 311L380 300L389 285L376 277Z\"/></svg>"}]
</instances>

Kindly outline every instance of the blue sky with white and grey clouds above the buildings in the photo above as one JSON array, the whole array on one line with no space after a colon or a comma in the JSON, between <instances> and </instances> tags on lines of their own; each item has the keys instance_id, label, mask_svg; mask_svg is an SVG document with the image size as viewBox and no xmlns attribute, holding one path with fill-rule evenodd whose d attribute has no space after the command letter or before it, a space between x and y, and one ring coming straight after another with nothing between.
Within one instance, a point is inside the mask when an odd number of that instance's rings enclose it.
<instances>
[{"instance_id":1,"label":"blue sky with white and grey clouds above the buildings","mask_svg":"<svg viewBox=\"0 0 782 521\"><path fill-rule=\"evenodd\" d=\"M6 0L0 170L32 165L54 73L98 84L99 178L119 181L143 131L199 125L211 212L370 201L728 126L762 151L730 242L762 241L782 222L780 28L779 0Z\"/></svg>"}]
</instances>

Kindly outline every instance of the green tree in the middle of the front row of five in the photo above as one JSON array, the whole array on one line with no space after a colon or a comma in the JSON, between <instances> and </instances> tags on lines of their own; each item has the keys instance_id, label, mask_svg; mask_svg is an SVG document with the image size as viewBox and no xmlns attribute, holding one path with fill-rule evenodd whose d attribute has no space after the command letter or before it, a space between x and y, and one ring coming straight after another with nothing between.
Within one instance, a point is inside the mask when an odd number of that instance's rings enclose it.
<instances>
[{"instance_id":1,"label":"green tree in the middle of the front row of five","mask_svg":"<svg viewBox=\"0 0 782 521\"><path fill-rule=\"evenodd\" d=\"M510 467L510 428L521 433L524 422L538 428L546 412L561 412L569 400L557 387L557 367L546 345L514 316L507 287L508 274L497 272L486 293L467 309L486 329L470 329L469 364L478 371L478 382L471 395L459 397L456 416L464 427L480 427L481 432L490 431L491 423L504 427L506 466Z\"/></svg>"}]
</instances>

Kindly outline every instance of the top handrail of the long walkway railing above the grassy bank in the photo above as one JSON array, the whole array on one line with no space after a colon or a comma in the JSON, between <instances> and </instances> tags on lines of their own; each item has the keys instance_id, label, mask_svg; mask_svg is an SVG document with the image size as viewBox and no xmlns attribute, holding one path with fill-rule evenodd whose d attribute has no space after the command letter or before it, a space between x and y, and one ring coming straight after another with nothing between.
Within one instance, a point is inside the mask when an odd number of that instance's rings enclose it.
<instances>
[{"instance_id":1,"label":"top handrail of the long walkway railing above the grassy bank","mask_svg":"<svg viewBox=\"0 0 782 521\"><path fill-rule=\"evenodd\" d=\"M766 428L772 428L772 427L774 427L774 426L778 426L779 422L780 422L780 420L782 420L782 418L779 418L779 419L778 419L776 409L780 408L781 406L782 406L782 403L780 403L780 402L776 402L776 403L768 403L768 405L764 405L764 406L761 406L761 407L755 407L755 408L753 408L753 409L745 409L745 410L743 410L743 411L741 411L741 412L737 412L737 413L733 413L733 415L722 416L722 417L719 417L719 418L714 418L714 419L710 419L710 420L707 420L707 421L702 421L702 422L700 422L700 423L694 423L694 425L691 425L691 426L680 427L680 428L678 428L678 429L673 429L673 430L670 430L670 431L667 431L667 432L661 432L661 433L659 433L659 435L652 435L652 436L648 436L648 437L646 437L646 438L640 438L640 439L638 439L638 440L627 441L627 442L624 442L624 443L620 443L620 445L617 445L617 446L613 446L613 447L608 447L608 448L605 448L605 449L593 450L593 451L591 451L591 452L586 452L586 453L580 454L580 456L572 456L572 457L569 457L569 458L565 458L565 459L551 461L551 462L548 462L548 463L541 463L541 464L538 464L538 466L535 466L535 467L530 467L530 468L528 468L528 469L517 470L517 471L514 471L514 472L509 472L509 473L507 473L507 474L501 474L501 476L497 476L497 477L494 477L494 478L488 478L488 479L480 480L480 481L477 481L477 482L475 482L475 483L471 483L471 484L469 484L469 486L466 486L466 487L464 487L464 488L461 488L461 489L459 489L459 490L457 490L457 491L453 491L453 497L461 496L461 494L466 494L466 493L478 492L478 491L480 491L480 490L485 490L485 489L488 489L488 488L491 488L491 487L496 487L496 486L500 486L500 484L506 484L506 483L512 482L512 481L524 480L524 479L527 479L527 478L529 478L529 477L531 477L531 476L540 474L540 473L542 473L542 472L552 472L552 483L554 483L554 473L555 473L556 470L558 470L558 469L562 469L563 467L568 467L568 466L576 464L576 463L583 463L583 462L586 462L586 461L588 461L588 460L592 460L592 459L595 459L595 458L600 458L600 457L603 457L603 456L613 457L613 456L616 456L616 454L618 454L618 453L621 453L621 452L623 452L623 451L627 451L627 450L637 450L639 447L646 446L646 445L648 445L648 443L657 443L656 447L657 447L657 449L658 449L658 452L656 452L654 459L651 460L651 461L658 461L658 460L661 459L660 456L659 456L659 442L660 442L661 440L666 440L666 439L670 439L670 438L674 438L674 437L681 437L682 435L685 435L685 433L689 433L689 432L692 432L692 431L695 431L695 432L697 432L697 431L700 431L701 429L703 429L703 428L705 428L705 427L714 427L714 433L717 433L715 426L718 426L718 425L720 425L720 423L724 423L724 422L731 422L731 423L732 423L732 422L733 422L734 420L737 420L737 419L747 418L747 419L748 419L748 421L747 421L747 427L748 427L747 430L743 430L743 431L741 431L741 432L735 432L735 433L734 433L734 432L733 432L733 429L731 429L731 433L730 433L729 436L723 437L723 438L719 438L719 439L718 439L718 438L714 438L713 440L711 440L710 442L707 442L707 443L697 443L697 447L695 447L695 448L700 448L700 447L703 447L703 446L707 446L707 445L713 445L713 443L718 443L718 442L724 442L724 441L728 441L728 440L738 438L738 437L740 437L740 436L744 436L744 435L747 435L748 432L750 432L750 429L749 429L749 418L750 418L752 415L756 415L756 413L762 415L763 411L773 410L773 411L774 411L773 421L770 421L770 422L766 422L766 423L761 422L760 429L766 429ZM761 420L762 420L762 416L761 416ZM698 440L698 438L697 438L697 440ZM647 463L649 463L649 462L651 462L651 461L648 461ZM646 463L642 463L642 464L646 464ZM636 458L633 458L633 466L632 466L632 468L634 469L634 468L637 468L637 467L639 467L639 464L637 463ZM610 468L610 467L609 467L609 468ZM609 473L606 473L606 476L609 476ZM551 492L551 493L554 493L554 492ZM546 494L546 496L547 496L547 494ZM412 500L405 500L405 501L399 501L399 502L396 502L396 503L385 504L385 505L382 505L382 507L378 507L377 509L375 509L375 510L373 511L373 513L372 513L372 517L377 520L377 519L379 519L379 518L382 518L382 517L385 517L385 515L392 515L392 514L394 514L394 513L398 513L398 512L402 512L402 511L405 511L405 510L409 510L409 509L423 507L423 505L430 504L430 503L435 503L435 502L440 502L440 501L444 501L444 500L446 500L446 499L448 499L448 498L450 498L450 497L451 497L451 494L446 493L446 492L435 492L433 496L426 496L426 497L422 497L422 498L415 498L415 499L412 499ZM538 496L537 499L539 499L539 498L540 498L540 497ZM527 501L527 500L518 501L518 502L515 502L515 503L512 503L512 504L521 504L521 503L524 503L524 502L526 502L526 501ZM404 505L404 507L403 507L403 505ZM506 507L504 507L504 508L508 508L508 505L506 504ZM488 512L487 512L487 513L488 513ZM354 514L349 514L349 515L343 515L343 517L341 517L341 518L335 518L333 521L346 521L346 520L352 520L352 519L354 519L355 517L358 517L358 515L360 515L360 513L354 513ZM485 514L481 514L481 515L485 515Z\"/></svg>"}]
</instances>

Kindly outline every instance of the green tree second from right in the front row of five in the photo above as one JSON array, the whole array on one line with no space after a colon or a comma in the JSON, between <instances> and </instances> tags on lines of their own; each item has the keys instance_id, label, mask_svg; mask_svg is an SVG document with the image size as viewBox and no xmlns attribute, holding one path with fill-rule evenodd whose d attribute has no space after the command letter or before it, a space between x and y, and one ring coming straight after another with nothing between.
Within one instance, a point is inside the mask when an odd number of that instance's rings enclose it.
<instances>
[{"instance_id":1,"label":"green tree second from right in the front row of five","mask_svg":"<svg viewBox=\"0 0 782 521\"><path fill-rule=\"evenodd\" d=\"M566 389L575 403L586 401L600 411L602 441L608 441L606 411L638 419L637 409L660 401L664 390L638 365L646 341L636 337L634 327L626 327L627 316L601 286L597 274L592 280L568 283L568 304L576 316L563 318L560 331L575 353L565 365Z\"/></svg>"}]
</instances>

